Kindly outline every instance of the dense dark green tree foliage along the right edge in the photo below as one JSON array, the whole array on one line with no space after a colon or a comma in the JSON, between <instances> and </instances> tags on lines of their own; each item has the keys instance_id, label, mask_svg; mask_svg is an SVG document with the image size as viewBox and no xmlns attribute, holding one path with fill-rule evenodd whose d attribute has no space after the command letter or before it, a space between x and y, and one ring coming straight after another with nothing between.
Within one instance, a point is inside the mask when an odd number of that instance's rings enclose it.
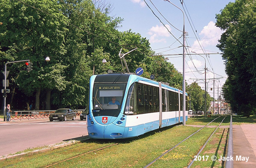
<instances>
[{"instance_id":1,"label":"dense dark green tree foliage along the right edge","mask_svg":"<svg viewBox=\"0 0 256 168\"><path fill-rule=\"evenodd\" d=\"M225 99L234 111L249 116L256 108L256 1L230 2L216 18L225 30L217 46L228 75Z\"/></svg>"}]
</instances>

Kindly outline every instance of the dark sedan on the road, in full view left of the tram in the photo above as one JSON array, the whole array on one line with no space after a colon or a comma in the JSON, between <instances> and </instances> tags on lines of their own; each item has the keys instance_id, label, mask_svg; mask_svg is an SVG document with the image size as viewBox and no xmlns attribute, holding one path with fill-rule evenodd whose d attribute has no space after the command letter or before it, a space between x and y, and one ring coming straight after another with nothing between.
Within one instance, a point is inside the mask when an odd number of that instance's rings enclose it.
<instances>
[{"instance_id":1,"label":"dark sedan on the road, in full view left of the tram","mask_svg":"<svg viewBox=\"0 0 256 168\"><path fill-rule=\"evenodd\" d=\"M75 120L76 113L73 112L70 108L60 108L57 109L54 113L49 115L50 121L53 120L60 120L60 121L67 121L68 119Z\"/></svg>"}]
</instances>

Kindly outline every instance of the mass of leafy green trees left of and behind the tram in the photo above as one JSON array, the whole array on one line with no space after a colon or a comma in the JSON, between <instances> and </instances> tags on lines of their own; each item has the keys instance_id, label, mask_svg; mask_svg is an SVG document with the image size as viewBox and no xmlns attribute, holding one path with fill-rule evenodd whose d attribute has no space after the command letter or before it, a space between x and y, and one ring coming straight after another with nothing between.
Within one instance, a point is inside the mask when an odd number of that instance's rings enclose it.
<instances>
[{"instance_id":1,"label":"mass of leafy green trees left of and behind the tram","mask_svg":"<svg viewBox=\"0 0 256 168\"><path fill-rule=\"evenodd\" d=\"M182 89L182 75L173 64L152 56L149 41L139 33L118 31L123 19L109 16L110 10L110 4L96 0L0 1L0 69L10 61L33 63L29 73L22 70L24 63L7 66L14 97L7 101L14 109L29 103L36 110L84 108L93 74L123 72L121 49L137 48L125 56L130 72L142 67L144 77L155 75L156 81Z\"/></svg>"}]
</instances>

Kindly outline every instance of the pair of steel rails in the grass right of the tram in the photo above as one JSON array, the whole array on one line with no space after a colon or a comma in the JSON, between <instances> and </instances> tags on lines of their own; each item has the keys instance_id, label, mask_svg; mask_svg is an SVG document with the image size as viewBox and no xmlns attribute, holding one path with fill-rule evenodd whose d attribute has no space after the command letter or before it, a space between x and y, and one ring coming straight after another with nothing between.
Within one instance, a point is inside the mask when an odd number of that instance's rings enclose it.
<instances>
[{"instance_id":1,"label":"pair of steel rails in the grass right of the tram","mask_svg":"<svg viewBox=\"0 0 256 168\"><path fill-rule=\"evenodd\" d=\"M221 117L221 116L219 116ZM169 153L170 151L172 151L174 148L176 148L177 146L179 146L181 143L183 143L184 141L188 140L189 138L191 138L193 135L195 135L196 133L198 133L199 131L201 131L202 129L206 128L207 126L209 126L213 121L215 121L216 119L218 119L219 117L213 119L211 122L209 122L207 125L203 126L202 128L200 128L199 130L197 130L196 132L194 132L193 134L189 135L187 138L185 138L184 140L182 140L181 142L179 142L178 144L176 144L175 146L173 146L172 148L170 148L168 151L164 152L162 155L160 155L159 157L157 157L155 160L153 160L151 163L149 163L148 165L146 165L144 168L148 168L150 167L152 164L154 164L156 161L158 161L160 158L162 158L164 155L166 155L167 153ZM205 146L207 145L207 143L209 142L210 138L214 135L214 133L216 132L216 130L220 127L220 125L223 123L224 119L226 118L226 116L223 118L223 120L220 122L220 124L217 126L217 128L213 131L213 133L210 135L210 137L207 139L206 143L203 145L203 147L199 150L199 152L197 153L197 157L199 156L199 154L203 151L203 149L205 148ZM189 163L188 168L191 167L191 165L194 163L196 157L194 157L194 159Z\"/></svg>"}]
</instances>

